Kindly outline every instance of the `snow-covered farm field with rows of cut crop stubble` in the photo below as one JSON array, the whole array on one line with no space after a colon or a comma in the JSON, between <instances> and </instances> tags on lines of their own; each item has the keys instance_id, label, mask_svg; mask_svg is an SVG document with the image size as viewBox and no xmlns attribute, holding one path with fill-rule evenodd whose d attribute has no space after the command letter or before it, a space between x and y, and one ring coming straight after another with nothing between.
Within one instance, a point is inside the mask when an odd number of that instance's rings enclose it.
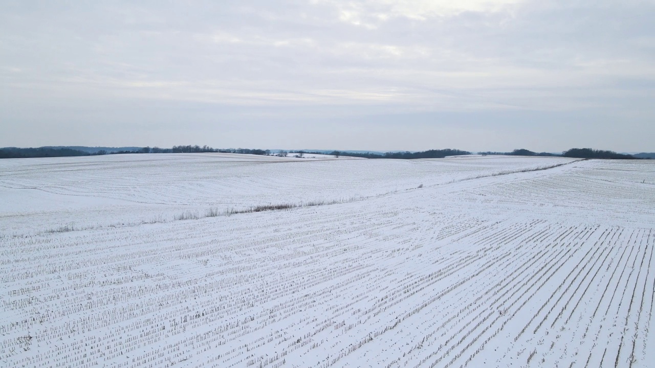
<instances>
[{"instance_id":1,"label":"snow-covered farm field with rows of cut crop stubble","mask_svg":"<svg viewBox=\"0 0 655 368\"><path fill-rule=\"evenodd\" d=\"M654 224L650 160L0 160L0 366L652 367Z\"/></svg>"}]
</instances>

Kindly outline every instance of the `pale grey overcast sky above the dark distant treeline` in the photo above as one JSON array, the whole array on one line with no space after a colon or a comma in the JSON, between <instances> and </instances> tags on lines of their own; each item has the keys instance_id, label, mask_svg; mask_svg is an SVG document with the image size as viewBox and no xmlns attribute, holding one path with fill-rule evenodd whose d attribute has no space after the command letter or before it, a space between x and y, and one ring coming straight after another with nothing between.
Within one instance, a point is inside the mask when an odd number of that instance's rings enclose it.
<instances>
[{"instance_id":1,"label":"pale grey overcast sky above the dark distant treeline","mask_svg":"<svg viewBox=\"0 0 655 368\"><path fill-rule=\"evenodd\" d=\"M655 151L654 19L653 0L0 0L0 147Z\"/></svg>"}]
</instances>

